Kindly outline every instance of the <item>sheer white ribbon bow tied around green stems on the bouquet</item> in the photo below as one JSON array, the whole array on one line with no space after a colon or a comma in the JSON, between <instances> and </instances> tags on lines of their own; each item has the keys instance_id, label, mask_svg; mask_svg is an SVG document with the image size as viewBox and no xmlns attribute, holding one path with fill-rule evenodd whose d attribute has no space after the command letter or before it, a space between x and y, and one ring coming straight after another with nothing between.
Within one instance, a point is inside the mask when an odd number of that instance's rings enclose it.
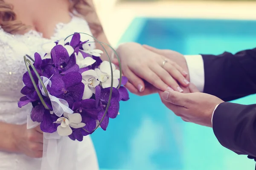
<instances>
[{"instance_id":1,"label":"sheer white ribbon bow tied around green stems on the bouquet","mask_svg":"<svg viewBox=\"0 0 256 170\"><path fill-rule=\"evenodd\" d=\"M47 85L49 85L51 87L52 82L50 79L48 79L47 77L44 77L44 76L41 76L41 79L42 79L45 87L47 87ZM41 82L39 81L38 84L39 84L39 88L40 88L42 94L44 96L46 96L43 86L41 85ZM47 93L48 93L48 96L49 96L51 104L52 104L53 112L55 113L56 116L60 117L61 115L63 115L63 113L73 113L73 111L69 108L66 100L59 99L55 96L52 96L48 90L47 90Z\"/></svg>"}]
</instances>

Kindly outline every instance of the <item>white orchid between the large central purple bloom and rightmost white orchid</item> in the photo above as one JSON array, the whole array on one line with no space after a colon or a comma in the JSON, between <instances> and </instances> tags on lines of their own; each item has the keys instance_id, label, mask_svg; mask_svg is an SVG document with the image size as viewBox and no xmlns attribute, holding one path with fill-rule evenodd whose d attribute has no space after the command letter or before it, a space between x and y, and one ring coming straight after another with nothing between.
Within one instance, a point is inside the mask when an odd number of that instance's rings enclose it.
<instances>
[{"instance_id":1,"label":"white orchid between the large central purple bloom and rightmost white orchid","mask_svg":"<svg viewBox=\"0 0 256 170\"><path fill-rule=\"evenodd\" d=\"M82 73L82 82L84 83L84 95L82 99L90 99L95 94L95 88L99 85L96 71L88 70Z\"/></svg>"}]
</instances>

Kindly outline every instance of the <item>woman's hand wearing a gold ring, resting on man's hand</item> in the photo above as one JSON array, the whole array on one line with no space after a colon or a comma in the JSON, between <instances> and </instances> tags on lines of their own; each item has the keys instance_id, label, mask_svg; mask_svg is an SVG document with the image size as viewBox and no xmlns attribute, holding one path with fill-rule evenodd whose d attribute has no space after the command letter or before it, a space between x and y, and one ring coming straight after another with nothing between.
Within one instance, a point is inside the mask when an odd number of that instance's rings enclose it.
<instances>
[{"instance_id":1,"label":"woman's hand wearing a gold ring, resting on man's hand","mask_svg":"<svg viewBox=\"0 0 256 170\"><path fill-rule=\"evenodd\" d=\"M116 52L121 59L122 72L129 80L126 87L134 94L151 94L157 92L158 89L161 91L173 89L182 92L179 84L184 87L189 85L185 79L187 73L179 65L143 48L138 43L128 42L119 45ZM167 62L162 67L166 59ZM117 59L113 59L112 62L118 65ZM153 86L145 86L143 80Z\"/></svg>"}]
</instances>

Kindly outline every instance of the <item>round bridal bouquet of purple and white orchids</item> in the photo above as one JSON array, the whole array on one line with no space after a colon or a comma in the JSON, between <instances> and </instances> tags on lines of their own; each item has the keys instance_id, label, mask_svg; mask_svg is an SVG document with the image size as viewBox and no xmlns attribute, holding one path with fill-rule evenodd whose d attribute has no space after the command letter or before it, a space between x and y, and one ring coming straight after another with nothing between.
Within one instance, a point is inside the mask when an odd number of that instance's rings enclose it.
<instances>
[{"instance_id":1,"label":"round bridal bouquet of purple and white orchids","mask_svg":"<svg viewBox=\"0 0 256 170\"><path fill-rule=\"evenodd\" d=\"M71 35L70 42L67 37L44 45L46 54L35 53L35 60L24 56L28 71L18 102L20 108L32 103L30 118L40 123L43 132L78 141L97 127L106 130L109 118L119 113L119 102L129 99L122 86L127 78L110 61L102 62L103 51L91 49L80 34L84 33Z\"/></svg>"}]
</instances>

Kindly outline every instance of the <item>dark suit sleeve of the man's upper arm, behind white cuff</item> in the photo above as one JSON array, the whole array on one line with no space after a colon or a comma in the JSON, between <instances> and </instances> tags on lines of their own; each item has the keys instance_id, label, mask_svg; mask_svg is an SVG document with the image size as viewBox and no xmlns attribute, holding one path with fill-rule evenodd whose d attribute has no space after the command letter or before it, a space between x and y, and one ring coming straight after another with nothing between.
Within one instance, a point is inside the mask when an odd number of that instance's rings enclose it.
<instances>
[{"instance_id":1,"label":"dark suit sleeve of the man's upper arm, behind white cuff","mask_svg":"<svg viewBox=\"0 0 256 170\"><path fill-rule=\"evenodd\" d=\"M204 93L224 101L256 93L256 48L237 54L202 55Z\"/></svg>"}]
</instances>

